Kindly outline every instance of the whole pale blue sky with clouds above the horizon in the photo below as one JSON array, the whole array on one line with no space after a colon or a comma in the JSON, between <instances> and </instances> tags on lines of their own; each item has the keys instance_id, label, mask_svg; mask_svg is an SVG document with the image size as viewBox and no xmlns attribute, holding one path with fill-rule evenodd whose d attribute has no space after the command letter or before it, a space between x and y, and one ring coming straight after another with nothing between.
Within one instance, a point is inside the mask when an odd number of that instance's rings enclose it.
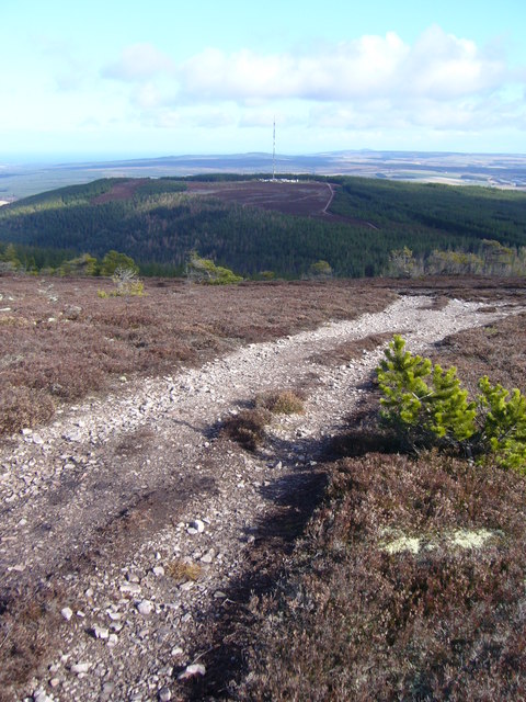
<instances>
[{"instance_id":1,"label":"whole pale blue sky with clouds above the horizon","mask_svg":"<svg viewBox=\"0 0 526 702\"><path fill-rule=\"evenodd\" d=\"M0 160L526 154L524 0L0 0Z\"/></svg>"}]
</instances>

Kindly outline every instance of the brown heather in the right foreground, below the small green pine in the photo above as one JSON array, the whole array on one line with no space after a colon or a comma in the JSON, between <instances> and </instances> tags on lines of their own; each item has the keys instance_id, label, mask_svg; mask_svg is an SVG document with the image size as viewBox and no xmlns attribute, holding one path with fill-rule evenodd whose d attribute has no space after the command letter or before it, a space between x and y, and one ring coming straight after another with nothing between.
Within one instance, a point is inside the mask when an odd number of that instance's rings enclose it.
<instances>
[{"instance_id":1,"label":"brown heather in the right foreground, below the small green pine","mask_svg":"<svg viewBox=\"0 0 526 702\"><path fill-rule=\"evenodd\" d=\"M260 631L239 699L523 699L524 479L385 454L331 476L294 576L252 602ZM447 540L458 529L495 536L460 548ZM389 530L434 547L389 554Z\"/></svg>"}]
</instances>

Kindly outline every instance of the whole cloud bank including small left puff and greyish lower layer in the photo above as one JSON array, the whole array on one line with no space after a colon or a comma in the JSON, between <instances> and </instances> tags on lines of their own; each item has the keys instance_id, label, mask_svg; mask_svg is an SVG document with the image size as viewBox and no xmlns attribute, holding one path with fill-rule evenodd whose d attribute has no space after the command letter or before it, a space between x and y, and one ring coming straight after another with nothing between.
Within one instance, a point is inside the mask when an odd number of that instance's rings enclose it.
<instances>
[{"instance_id":1,"label":"whole cloud bank including small left puff and greyish lower layer","mask_svg":"<svg viewBox=\"0 0 526 702\"><path fill-rule=\"evenodd\" d=\"M103 69L122 81L142 124L172 128L469 131L503 124L524 129L502 49L477 46L433 25L412 44L395 32L365 35L310 53L261 54L209 47L176 65L150 44L125 48ZM127 83L130 83L128 86Z\"/></svg>"}]
</instances>

